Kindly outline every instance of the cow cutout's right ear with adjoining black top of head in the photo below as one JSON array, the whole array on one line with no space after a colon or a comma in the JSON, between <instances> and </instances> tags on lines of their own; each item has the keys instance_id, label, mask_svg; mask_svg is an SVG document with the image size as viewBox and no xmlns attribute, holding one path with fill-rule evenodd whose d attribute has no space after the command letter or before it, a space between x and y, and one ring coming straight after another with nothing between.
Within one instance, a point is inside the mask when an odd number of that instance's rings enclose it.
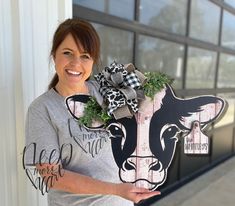
<instances>
[{"instance_id":1,"label":"cow cutout's right ear with adjoining black top of head","mask_svg":"<svg viewBox=\"0 0 235 206\"><path fill-rule=\"evenodd\" d=\"M169 85L166 88L166 95L162 100L165 113L178 117L188 129L193 121L199 121L203 127L218 119L225 111L226 102L220 97L205 95L182 99L175 96Z\"/></svg>"}]
</instances>

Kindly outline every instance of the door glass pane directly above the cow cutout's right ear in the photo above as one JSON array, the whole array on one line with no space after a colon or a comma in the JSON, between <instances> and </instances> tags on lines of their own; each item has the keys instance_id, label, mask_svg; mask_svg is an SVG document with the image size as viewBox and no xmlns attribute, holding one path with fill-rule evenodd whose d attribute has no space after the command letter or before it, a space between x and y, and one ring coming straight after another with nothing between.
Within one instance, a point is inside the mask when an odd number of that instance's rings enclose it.
<instances>
[{"instance_id":1,"label":"door glass pane directly above the cow cutout's right ear","mask_svg":"<svg viewBox=\"0 0 235 206\"><path fill-rule=\"evenodd\" d=\"M216 57L216 52L188 49L186 88L214 87Z\"/></svg>"}]
</instances>

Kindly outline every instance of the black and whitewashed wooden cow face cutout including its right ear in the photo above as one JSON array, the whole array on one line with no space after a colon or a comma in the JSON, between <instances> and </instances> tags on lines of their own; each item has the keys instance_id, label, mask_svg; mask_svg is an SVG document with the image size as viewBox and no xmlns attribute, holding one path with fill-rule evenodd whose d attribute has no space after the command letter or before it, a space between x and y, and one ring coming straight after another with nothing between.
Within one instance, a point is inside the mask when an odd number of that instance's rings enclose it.
<instances>
[{"instance_id":1,"label":"black and whitewashed wooden cow face cutout including its right ear","mask_svg":"<svg viewBox=\"0 0 235 206\"><path fill-rule=\"evenodd\" d=\"M113 157L123 182L154 190L167 178L175 154L178 134L192 137L217 119L225 106L215 96L191 99L177 98L170 86L146 98L132 118L111 120L110 133Z\"/></svg>"}]
</instances>

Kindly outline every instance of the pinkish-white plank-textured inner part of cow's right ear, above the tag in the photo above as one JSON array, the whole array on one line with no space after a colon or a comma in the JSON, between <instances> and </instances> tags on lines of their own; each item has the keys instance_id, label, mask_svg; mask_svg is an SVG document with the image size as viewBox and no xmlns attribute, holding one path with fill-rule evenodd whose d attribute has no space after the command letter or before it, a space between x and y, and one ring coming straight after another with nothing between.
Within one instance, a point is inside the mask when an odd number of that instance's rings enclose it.
<instances>
[{"instance_id":1,"label":"pinkish-white plank-textured inner part of cow's right ear, above the tag","mask_svg":"<svg viewBox=\"0 0 235 206\"><path fill-rule=\"evenodd\" d=\"M198 111L190 112L187 116L182 116L180 120L181 124L190 129L192 123L195 121L200 122L202 127L209 122L215 121L222 114L225 103L221 98L214 98L216 99L214 103L204 104L198 108Z\"/></svg>"}]
</instances>

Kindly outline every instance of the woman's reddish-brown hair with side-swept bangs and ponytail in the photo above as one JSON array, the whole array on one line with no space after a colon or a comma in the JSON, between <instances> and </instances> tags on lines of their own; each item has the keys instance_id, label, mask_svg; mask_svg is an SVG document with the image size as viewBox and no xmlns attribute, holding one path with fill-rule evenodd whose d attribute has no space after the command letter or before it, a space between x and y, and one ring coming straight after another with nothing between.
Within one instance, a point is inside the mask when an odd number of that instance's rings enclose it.
<instances>
[{"instance_id":1,"label":"woman's reddish-brown hair with side-swept bangs and ponytail","mask_svg":"<svg viewBox=\"0 0 235 206\"><path fill-rule=\"evenodd\" d=\"M78 48L82 46L83 49L91 55L94 60L94 64L99 62L99 36L94 27L89 22L81 19L67 19L58 26L52 42L50 53L52 57L55 57L57 48L68 34L73 36ZM55 74L48 86L48 89L55 87L58 81L58 75Z\"/></svg>"}]
</instances>

